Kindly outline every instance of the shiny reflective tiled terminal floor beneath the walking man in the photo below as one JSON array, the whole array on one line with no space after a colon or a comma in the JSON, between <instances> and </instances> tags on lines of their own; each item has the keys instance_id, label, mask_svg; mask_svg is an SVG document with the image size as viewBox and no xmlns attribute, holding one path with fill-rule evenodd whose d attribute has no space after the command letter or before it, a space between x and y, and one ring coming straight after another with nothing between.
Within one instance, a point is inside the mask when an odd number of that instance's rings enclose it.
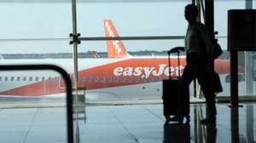
<instances>
[{"instance_id":1,"label":"shiny reflective tiled terminal floor beneath the walking man","mask_svg":"<svg viewBox=\"0 0 256 143\"><path fill-rule=\"evenodd\" d=\"M216 125L202 125L205 105L190 106L190 123L166 124L162 105L89 106L87 120L79 120L80 142L180 143L255 142L256 108L218 104ZM79 115L83 117L83 114ZM0 143L67 142L66 109L13 108L0 111Z\"/></svg>"}]
</instances>

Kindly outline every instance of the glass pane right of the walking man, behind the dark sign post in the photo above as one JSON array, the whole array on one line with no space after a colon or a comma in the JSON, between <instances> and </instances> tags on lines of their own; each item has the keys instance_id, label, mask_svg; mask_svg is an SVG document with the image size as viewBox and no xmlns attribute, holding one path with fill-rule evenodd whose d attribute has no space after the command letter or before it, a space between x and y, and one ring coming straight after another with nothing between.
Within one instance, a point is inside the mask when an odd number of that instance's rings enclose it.
<instances>
[{"instance_id":1,"label":"glass pane right of the walking man, behind the dark sign post","mask_svg":"<svg viewBox=\"0 0 256 143\"><path fill-rule=\"evenodd\" d=\"M224 92L219 93L217 100L230 100L230 54L227 51L227 29L228 29L228 10L229 9L245 9L245 1L215 1L214 6L214 26L215 31L218 31L218 43L221 48L224 50L224 54L219 57L219 60L215 61L215 71L220 74L221 83L224 89ZM241 55L241 54L239 54ZM219 63L219 64L218 64ZM222 63L222 64L221 64ZM239 58L240 70L244 67L241 58ZM219 65L219 66L218 66ZM224 72L223 68L227 67L227 71ZM239 73L239 94L242 91L242 85L244 83L244 73Z\"/></svg>"}]
</instances>

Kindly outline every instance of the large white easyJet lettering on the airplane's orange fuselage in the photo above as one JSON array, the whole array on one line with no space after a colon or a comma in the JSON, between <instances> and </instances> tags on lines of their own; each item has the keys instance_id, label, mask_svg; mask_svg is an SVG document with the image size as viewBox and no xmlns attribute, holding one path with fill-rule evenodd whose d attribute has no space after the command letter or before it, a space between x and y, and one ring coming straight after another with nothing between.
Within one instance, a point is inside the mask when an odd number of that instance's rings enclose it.
<instances>
[{"instance_id":1,"label":"large white easyJet lettering on the airplane's orange fuselage","mask_svg":"<svg viewBox=\"0 0 256 143\"><path fill-rule=\"evenodd\" d=\"M181 75L183 73L184 66L179 66ZM171 76L177 77L178 76L178 66L170 67ZM169 68L166 64L161 64L158 67L116 67L113 69L114 76L137 76L142 78L148 78L150 75L154 77L159 77L161 75L169 76Z\"/></svg>"}]
</instances>

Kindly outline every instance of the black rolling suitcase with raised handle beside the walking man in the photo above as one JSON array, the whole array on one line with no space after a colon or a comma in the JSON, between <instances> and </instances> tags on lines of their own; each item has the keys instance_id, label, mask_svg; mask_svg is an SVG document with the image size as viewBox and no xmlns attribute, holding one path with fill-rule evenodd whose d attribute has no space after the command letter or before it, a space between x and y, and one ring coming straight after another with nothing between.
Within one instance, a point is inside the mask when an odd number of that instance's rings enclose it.
<instances>
[{"instance_id":1,"label":"black rolling suitcase with raised handle beside the walking man","mask_svg":"<svg viewBox=\"0 0 256 143\"><path fill-rule=\"evenodd\" d=\"M180 47L171 49L168 51L168 66L169 69L171 67L171 60L170 60L170 54L171 53L177 53L177 66L180 66L179 61L179 54L180 50L183 50ZM171 77L171 70L169 70L169 79L163 80L163 94L162 94L162 100L163 100L163 109L164 109L164 116L166 117L166 120L170 118L171 115L177 114L177 88L180 78L180 69L178 68L178 77L172 78Z\"/></svg>"}]
</instances>

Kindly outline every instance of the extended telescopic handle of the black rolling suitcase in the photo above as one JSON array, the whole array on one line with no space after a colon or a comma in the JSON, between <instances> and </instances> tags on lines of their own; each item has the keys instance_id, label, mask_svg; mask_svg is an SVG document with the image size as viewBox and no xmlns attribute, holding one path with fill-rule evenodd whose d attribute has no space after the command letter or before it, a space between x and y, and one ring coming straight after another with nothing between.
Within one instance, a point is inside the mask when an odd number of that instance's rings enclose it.
<instances>
[{"instance_id":1,"label":"extended telescopic handle of the black rolling suitcase","mask_svg":"<svg viewBox=\"0 0 256 143\"><path fill-rule=\"evenodd\" d=\"M175 47L171 50L169 50L168 53L168 66L169 66L169 79L172 79L171 77L171 60L170 60L170 54L177 53L177 71L178 71L178 78L180 78L180 60L179 55L180 51L185 51L184 47Z\"/></svg>"}]
</instances>

